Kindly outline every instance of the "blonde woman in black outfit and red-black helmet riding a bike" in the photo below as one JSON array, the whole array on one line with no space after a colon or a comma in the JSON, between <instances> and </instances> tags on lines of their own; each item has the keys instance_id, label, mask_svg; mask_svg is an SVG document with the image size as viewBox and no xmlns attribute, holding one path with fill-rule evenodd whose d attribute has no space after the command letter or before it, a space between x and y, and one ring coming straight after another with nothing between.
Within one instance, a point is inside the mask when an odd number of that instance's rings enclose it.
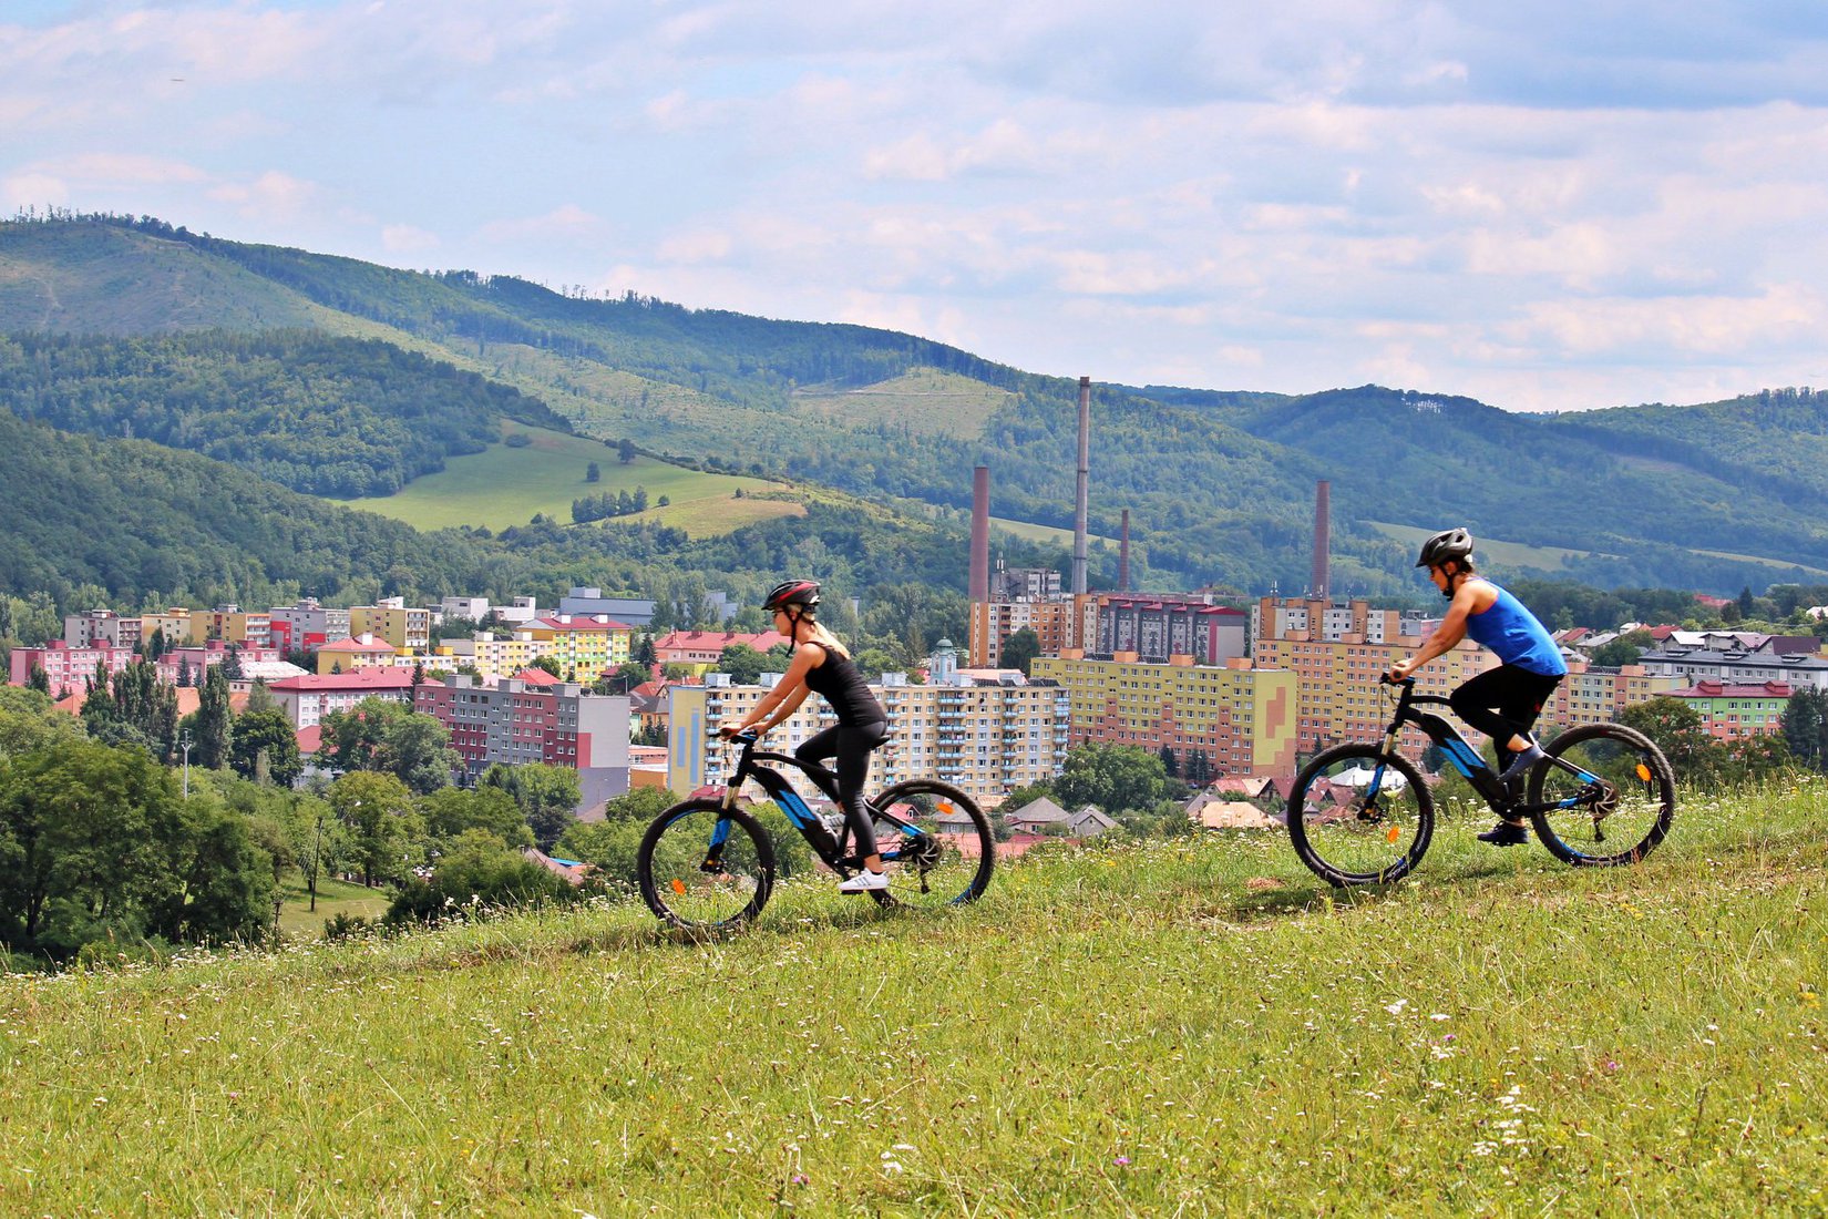
<instances>
[{"instance_id":1,"label":"blonde woman in black outfit and red-black helmet riding a bike","mask_svg":"<svg viewBox=\"0 0 1828 1219\"><path fill-rule=\"evenodd\" d=\"M876 826L863 808L863 784L870 777L870 749L888 740L888 715L876 702L876 694L865 685L863 674L852 663L850 652L837 638L815 620L819 609L819 585L810 579L788 579L775 585L762 601L762 609L775 616L775 631L784 634L793 645L793 660L786 674L762 696L755 709L742 720L724 724L718 731L735 737L755 729L760 737L775 724L793 715L808 693L819 693L837 724L813 735L793 751L802 762L823 762L837 758L837 797L845 808L845 821L850 822L850 835L863 857L863 872L843 881L837 888L843 894L868 894L888 888L883 875L883 857L876 848Z\"/></svg>"}]
</instances>

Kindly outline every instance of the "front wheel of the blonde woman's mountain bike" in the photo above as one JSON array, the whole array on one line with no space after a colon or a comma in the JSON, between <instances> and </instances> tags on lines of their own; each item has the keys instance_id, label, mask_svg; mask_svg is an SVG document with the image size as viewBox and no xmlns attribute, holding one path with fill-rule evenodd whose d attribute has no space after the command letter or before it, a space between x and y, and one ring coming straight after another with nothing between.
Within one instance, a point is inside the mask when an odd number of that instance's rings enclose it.
<instances>
[{"instance_id":1,"label":"front wheel of the blonde woman's mountain bike","mask_svg":"<svg viewBox=\"0 0 1828 1219\"><path fill-rule=\"evenodd\" d=\"M673 927L729 930L768 905L775 848L740 808L687 800L647 826L634 875L647 908Z\"/></svg>"}]
</instances>

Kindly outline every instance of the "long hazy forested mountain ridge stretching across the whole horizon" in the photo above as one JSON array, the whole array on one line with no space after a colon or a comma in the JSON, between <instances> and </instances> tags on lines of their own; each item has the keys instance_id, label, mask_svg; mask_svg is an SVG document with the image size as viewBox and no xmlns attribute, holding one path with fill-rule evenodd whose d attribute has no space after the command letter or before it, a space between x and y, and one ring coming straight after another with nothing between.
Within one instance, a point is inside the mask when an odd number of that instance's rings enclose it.
<instances>
[{"instance_id":1,"label":"long hazy forested mountain ridge stretching across the whole horizon","mask_svg":"<svg viewBox=\"0 0 1828 1219\"><path fill-rule=\"evenodd\" d=\"M152 219L0 225L0 333L298 327L422 353L579 433L717 468L958 508L982 461L998 515L1071 514L1073 378L870 327L395 270ZM1113 535L1130 510L1137 579L1153 587L1300 588L1314 481L1331 479L1342 590L1413 590L1415 530L1466 523L1515 543L1493 550L1499 570L1737 592L1828 570L1823 402L1784 409L1753 398L1550 419L1378 387L1099 386L1091 523ZM466 428L450 424L444 451L461 451ZM371 472L411 477L435 459L402 453ZM278 451L238 461L287 477ZM296 472L291 484L324 486Z\"/></svg>"}]
</instances>

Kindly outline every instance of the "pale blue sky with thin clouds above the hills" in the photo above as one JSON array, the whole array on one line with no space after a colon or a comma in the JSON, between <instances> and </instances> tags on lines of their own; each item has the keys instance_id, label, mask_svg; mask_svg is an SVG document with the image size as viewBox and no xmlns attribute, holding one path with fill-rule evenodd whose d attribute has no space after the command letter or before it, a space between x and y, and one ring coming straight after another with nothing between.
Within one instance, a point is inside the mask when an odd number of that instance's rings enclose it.
<instances>
[{"instance_id":1,"label":"pale blue sky with thin clouds above the hills","mask_svg":"<svg viewBox=\"0 0 1828 1219\"><path fill-rule=\"evenodd\" d=\"M0 210L1506 409L1828 386L1828 5L0 4Z\"/></svg>"}]
</instances>

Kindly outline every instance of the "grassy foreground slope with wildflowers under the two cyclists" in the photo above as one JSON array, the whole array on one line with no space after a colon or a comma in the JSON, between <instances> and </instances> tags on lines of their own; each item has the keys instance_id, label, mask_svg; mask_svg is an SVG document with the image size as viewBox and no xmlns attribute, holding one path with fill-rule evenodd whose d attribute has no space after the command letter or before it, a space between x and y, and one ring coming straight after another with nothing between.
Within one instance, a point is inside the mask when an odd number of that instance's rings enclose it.
<instances>
[{"instance_id":1,"label":"grassy foreground slope with wildflowers under the two cyclists","mask_svg":"<svg viewBox=\"0 0 1828 1219\"><path fill-rule=\"evenodd\" d=\"M1828 786L1627 870L1274 833L0 980L4 1214L1819 1214Z\"/></svg>"}]
</instances>

